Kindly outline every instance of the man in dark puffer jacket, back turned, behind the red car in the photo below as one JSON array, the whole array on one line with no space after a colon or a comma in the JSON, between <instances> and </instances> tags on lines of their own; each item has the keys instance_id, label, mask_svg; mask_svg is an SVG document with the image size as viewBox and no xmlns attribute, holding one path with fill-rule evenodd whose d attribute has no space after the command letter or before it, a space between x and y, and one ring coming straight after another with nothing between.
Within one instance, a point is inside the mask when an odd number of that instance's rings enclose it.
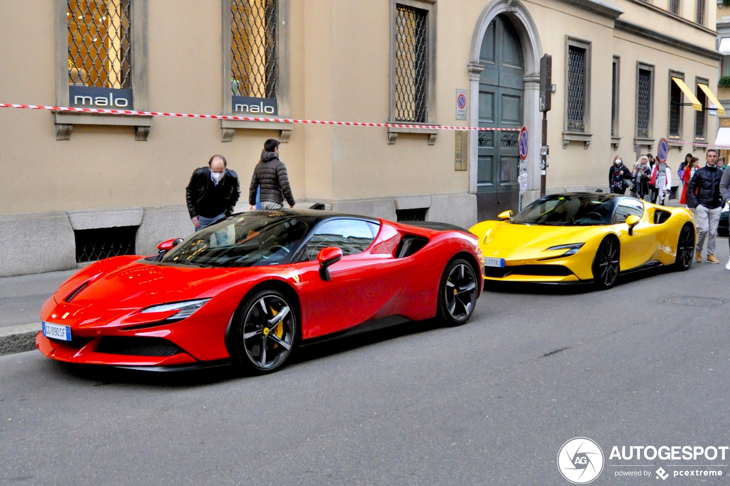
<instances>
[{"instance_id":1,"label":"man in dark puffer jacket, back turned, behind the red car","mask_svg":"<svg viewBox=\"0 0 730 486\"><path fill-rule=\"evenodd\" d=\"M286 173L286 165L279 160L279 141L274 138L264 142L264 152L261 152L261 160L253 169L251 187L248 190L248 203L251 211L255 209L256 189L261 187L261 208L281 209L284 198L293 208L294 197L289 187L289 176Z\"/></svg>"}]
</instances>

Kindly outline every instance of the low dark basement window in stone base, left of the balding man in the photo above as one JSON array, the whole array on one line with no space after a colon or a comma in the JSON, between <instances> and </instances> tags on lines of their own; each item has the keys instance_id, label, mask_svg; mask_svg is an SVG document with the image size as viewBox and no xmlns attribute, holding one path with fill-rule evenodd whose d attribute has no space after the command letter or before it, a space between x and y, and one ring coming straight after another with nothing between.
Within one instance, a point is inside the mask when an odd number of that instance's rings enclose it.
<instances>
[{"instance_id":1,"label":"low dark basement window in stone base, left of the balding man","mask_svg":"<svg viewBox=\"0 0 730 486\"><path fill-rule=\"evenodd\" d=\"M76 261L94 262L110 256L134 255L137 226L74 230Z\"/></svg>"}]
</instances>

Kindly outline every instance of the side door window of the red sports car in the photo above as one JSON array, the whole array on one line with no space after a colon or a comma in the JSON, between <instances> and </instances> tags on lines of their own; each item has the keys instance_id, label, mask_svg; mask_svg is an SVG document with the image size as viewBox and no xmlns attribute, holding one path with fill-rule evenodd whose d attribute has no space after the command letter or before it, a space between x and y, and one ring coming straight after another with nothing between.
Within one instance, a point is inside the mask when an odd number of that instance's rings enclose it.
<instances>
[{"instance_id":1,"label":"side door window of the red sports car","mask_svg":"<svg viewBox=\"0 0 730 486\"><path fill-rule=\"evenodd\" d=\"M342 250L342 255L361 253L375 239L376 224L368 224L360 219L333 219L320 226L307 242L307 259L316 260L322 248L334 246Z\"/></svg>"}]
</instances>

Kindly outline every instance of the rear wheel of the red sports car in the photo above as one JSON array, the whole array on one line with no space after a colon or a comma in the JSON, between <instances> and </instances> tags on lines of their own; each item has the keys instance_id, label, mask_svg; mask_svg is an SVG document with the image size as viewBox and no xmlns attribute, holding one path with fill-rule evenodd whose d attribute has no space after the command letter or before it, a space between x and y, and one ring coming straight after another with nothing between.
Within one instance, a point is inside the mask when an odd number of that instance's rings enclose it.
<instances>
[{"instance_id":1,"label":"rear wheel of the red sports car","mask_svg":"<svg viewBox=\"0 0 730 486\"><path fill-rule=\"evenodd\" d=\"M455 259L446 265L439 283L438 303L438 316L445 324L460 326L472 317L480 277L465 259Z\"/></svg>"}]
</instances>

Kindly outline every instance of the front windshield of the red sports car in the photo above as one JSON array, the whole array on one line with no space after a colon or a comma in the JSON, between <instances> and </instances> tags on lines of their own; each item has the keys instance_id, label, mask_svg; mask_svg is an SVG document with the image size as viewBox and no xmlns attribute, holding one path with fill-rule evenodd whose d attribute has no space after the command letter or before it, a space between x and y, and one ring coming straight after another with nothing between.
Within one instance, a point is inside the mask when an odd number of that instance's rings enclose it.
<instances>
[{"instance_id":1,"label":"front windshield of the red sports car","mask_svg":"<svg viewBox=\"0 0 730 486\"><path fill-rule=\"evenodd\" d=\"M224 219L194 233L162 261L210 267L287 263L309 225L307 218L279 214L249 213Z\"/></svg>"}]
</instances>

